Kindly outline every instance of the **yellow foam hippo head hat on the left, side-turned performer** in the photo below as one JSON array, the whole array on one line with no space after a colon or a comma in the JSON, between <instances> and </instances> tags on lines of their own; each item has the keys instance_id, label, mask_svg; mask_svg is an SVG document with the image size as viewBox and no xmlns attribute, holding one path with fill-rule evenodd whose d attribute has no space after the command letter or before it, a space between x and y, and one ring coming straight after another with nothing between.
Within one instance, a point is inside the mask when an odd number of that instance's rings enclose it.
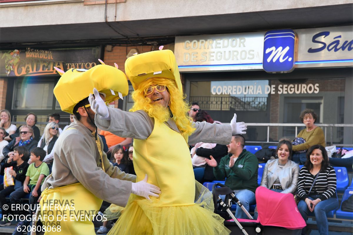
<instances>
[{"instance_id":1,"label":"yellow foam hippo head hat on the left, side-turned performer","mask_svg":"<svg viewBox=\"0 0 353 235\"><path fill-rule=\"evenodd\" d=\"M113 66L99 64L88 70L70 69L65 73L58 70L61 78L54 87L54 95L61 110L73 114L73 107L97 88L108 103L128 93L126 75ZM120 94L119 94L120 93Z\"/></svg>"}]
</instances>

